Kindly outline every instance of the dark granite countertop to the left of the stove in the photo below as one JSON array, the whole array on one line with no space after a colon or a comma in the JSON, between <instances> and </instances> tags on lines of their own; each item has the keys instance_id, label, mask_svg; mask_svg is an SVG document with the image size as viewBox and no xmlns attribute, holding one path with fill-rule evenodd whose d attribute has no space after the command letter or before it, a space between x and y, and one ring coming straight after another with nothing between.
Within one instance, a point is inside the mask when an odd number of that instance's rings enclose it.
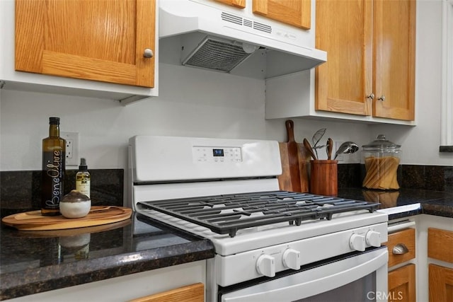
<instances>
[{"instance_id":1,"label":"dark granite countertop to the left of the stove","mask_svg":"<svg viewBox=\"0 0 453 302\"><path fill-rule=\"evenodd\" d=\"M136 213L59 231L2 225L0 236L0 300L214 257L210 240Z\"/></svg>"}]
</instances>

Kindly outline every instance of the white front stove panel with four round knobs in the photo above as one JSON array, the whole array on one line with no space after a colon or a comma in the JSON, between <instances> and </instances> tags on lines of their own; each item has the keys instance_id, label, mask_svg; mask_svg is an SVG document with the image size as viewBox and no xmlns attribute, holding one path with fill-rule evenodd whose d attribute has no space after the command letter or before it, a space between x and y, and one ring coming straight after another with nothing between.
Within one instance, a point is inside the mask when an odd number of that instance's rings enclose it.
<instances>
[{"instance_id":1,"label":"white front stove panel with four round knobs","mask_svg":"<svg viewBox=\"0 0 453 302\"><path fill-rule=\"evenodd\" d=\"M387 223L362 226L321 236L295 240L280 245L272 245L257 250L220 257L216 255L216 265L222 274L217 275L221 286L229 286L256 279L275 277L277 272L287 269L297 270L331 257L344 255L365 248L379 247L388 240Z\"/></svg>"}]
</instances>

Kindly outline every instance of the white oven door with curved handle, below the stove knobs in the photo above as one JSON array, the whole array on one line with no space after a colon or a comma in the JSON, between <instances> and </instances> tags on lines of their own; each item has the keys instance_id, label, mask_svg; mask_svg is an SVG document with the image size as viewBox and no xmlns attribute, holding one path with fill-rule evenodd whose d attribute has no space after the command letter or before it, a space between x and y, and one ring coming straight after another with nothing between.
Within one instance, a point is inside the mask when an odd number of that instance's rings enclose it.
<instances>
[{"instance_id":1,"label":"white oven door with curved handle, below the stove knobs","mask_svg":"<svg viewBox=\"0 0 453 302\"><path fill-rule=\"evenodd\" d=\"M222 293L222 302L387 301L385 246L316 263L277 279Z\"/></svg>"}]
</instances>

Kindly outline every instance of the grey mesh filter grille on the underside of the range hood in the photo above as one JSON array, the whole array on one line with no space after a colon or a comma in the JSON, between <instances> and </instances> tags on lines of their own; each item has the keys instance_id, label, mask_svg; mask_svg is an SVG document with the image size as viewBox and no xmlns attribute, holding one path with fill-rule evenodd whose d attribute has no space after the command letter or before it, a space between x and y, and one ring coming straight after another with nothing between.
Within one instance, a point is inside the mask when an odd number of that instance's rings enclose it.
<instances>
[{"instance_id":1,"label":"grey mesh filter grille on the underside of the range hood","mask_svg":"<svg viewBox=\"0 0 453 302\"><path fill-rule=\"evenodd\" d=\"M183 61L183 65L229 72L250 55L244 52L241 43L206 37Z\"/></svg>"}]
</instances>

